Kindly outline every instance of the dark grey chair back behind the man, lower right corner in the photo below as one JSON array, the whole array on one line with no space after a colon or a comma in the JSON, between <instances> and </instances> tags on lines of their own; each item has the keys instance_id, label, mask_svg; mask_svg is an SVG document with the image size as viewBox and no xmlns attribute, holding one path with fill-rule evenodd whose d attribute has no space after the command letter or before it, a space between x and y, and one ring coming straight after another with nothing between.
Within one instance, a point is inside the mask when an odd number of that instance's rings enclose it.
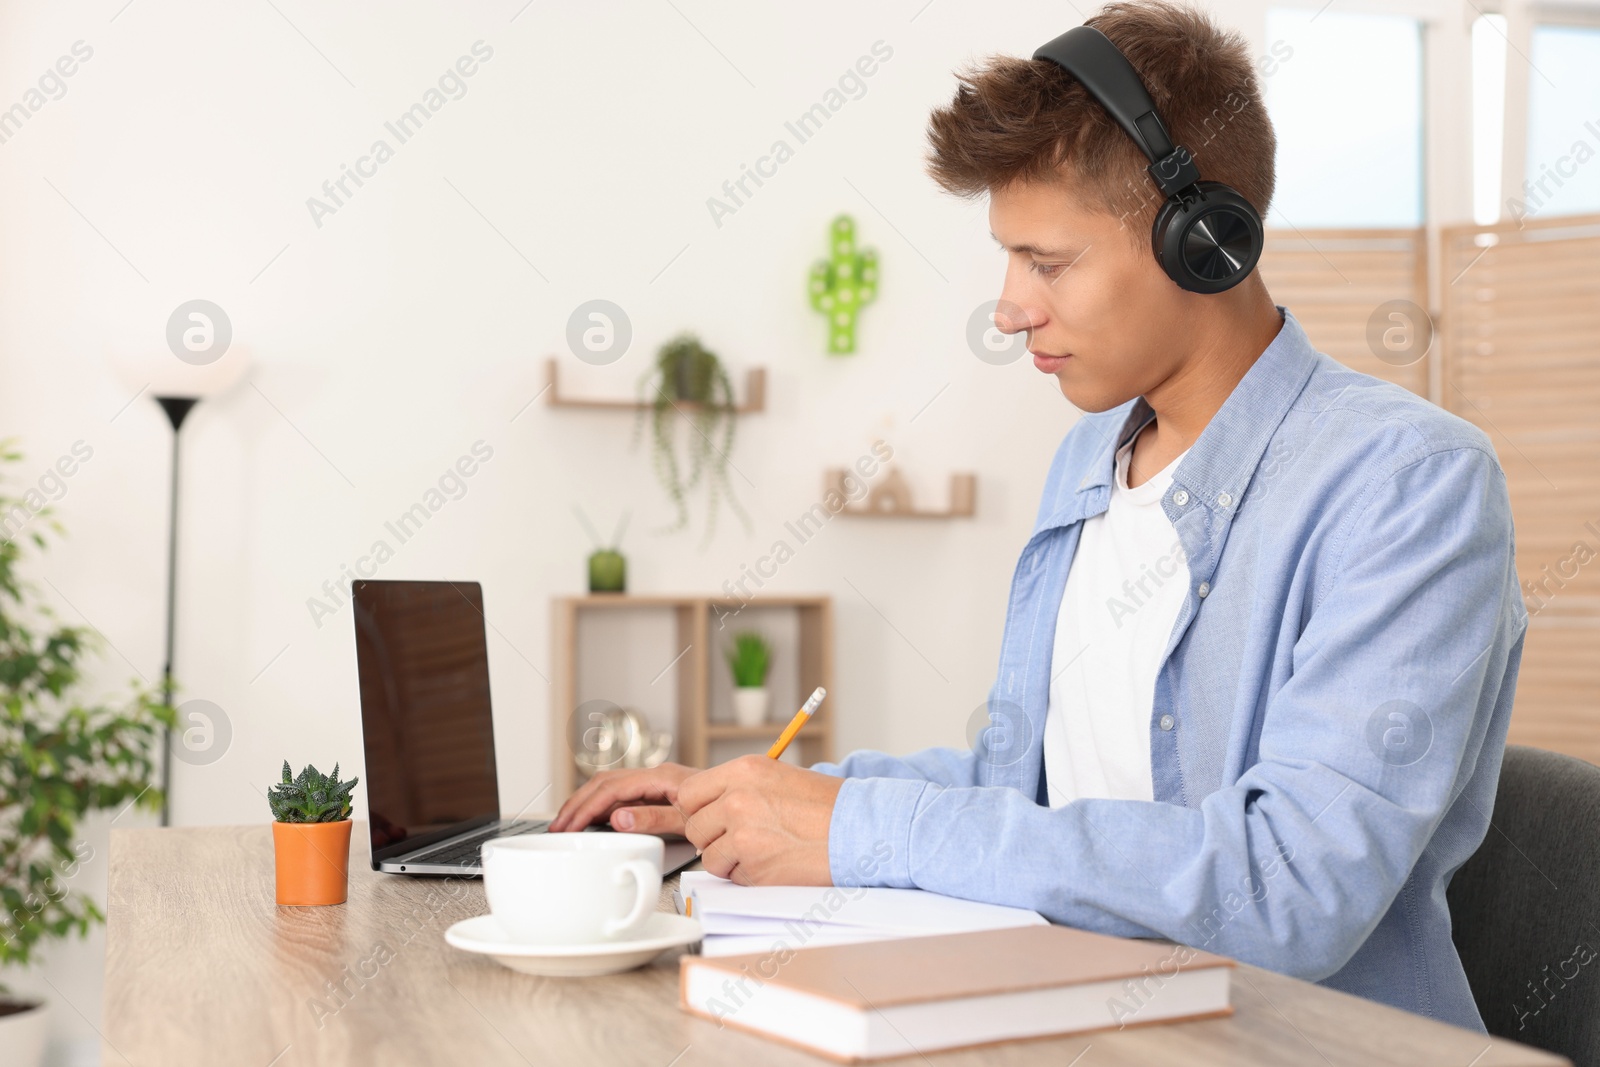
<instances>
[{"instance_id":1,"label":"dark grey chair back behind the man, lower right corner","mask_svg":"<svg viewBox=\"0 0 1600 1067\"><path fill-rule=\"evenodd\" d=\"M1600 1067L1600 766L1507 745L1493 825L1448 899L1490 1033Z\"/></svg>"}]
</instances>

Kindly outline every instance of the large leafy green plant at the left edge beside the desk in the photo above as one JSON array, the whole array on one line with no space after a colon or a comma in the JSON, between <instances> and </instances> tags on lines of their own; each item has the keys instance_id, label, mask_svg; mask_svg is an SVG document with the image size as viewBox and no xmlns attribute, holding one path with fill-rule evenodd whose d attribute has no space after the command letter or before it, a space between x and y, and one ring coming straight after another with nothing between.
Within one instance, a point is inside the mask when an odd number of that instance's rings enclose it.
<instances>
[{"instance_id":1,"label":"large leafy green plant at the left edge beside the desk","mask_svg":"<svg viewBox=\"0 0 1600 1067\"><path fill-rule=\"evenodd\" d=\"M0 475L21 459L14 440L0 440ZM174 718L138 681L117 707L74 694L99 641L59 624L18 574L22 542L43 549L45 531L62 533L50 507L10 496L0 478L0 968L27 966L40 942L106 920L67 885L93 857L78 824L130 803L160 808L155 749Z\"/></svg>"}]
</instances>

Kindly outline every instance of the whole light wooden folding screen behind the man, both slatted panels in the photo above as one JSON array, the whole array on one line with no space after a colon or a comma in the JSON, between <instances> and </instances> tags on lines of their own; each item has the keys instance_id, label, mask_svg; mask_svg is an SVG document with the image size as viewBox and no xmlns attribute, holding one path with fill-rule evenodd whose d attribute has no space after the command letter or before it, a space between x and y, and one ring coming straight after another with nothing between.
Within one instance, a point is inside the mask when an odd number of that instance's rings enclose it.
<instances>
[{"instance_id":1,"label":"whole light wooden folding screen behind the man, both slatted panels","mask_svg":"<svg viewBox=\"0 0 1600 1067\"><path fill-rule=\"evenodd\" d=\"M1421 229L1274 229L1261 272L1318 349L1490 435L1530 614L1510 739L1600 763L1600 216L1445 227L1432 286L1429 251ZM1366 341L1394 299L1435 325L1408 366Z\"/></svg>"}]
</instances>

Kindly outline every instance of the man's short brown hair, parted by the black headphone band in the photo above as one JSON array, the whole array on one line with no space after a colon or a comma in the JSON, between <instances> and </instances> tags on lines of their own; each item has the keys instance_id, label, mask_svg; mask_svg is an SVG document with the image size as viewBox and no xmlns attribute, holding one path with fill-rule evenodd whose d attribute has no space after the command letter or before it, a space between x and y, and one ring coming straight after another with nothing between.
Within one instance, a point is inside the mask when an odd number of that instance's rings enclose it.
<instances>
[{"instance_id":1,"label":"man's short brown hair, parted by the black headphone band","mask_svg":"<svg viewBox=\"0 0 1600 1067\"><path fill-rule=\"evenodd\" d=\"M1232 186L1266 216L1277 136L1245 40L1163 0L1109 3L1085 26L1106 34L1139 72L1200 176ZM1162 205L1144 170L1149 160L1077 78L1048 59L1016 56L990 56L957 77L955 98L928 122L928 171L939 186L978 197L1070 178L1136 240L1149 240Z\"/></svg>"}]
</instances>

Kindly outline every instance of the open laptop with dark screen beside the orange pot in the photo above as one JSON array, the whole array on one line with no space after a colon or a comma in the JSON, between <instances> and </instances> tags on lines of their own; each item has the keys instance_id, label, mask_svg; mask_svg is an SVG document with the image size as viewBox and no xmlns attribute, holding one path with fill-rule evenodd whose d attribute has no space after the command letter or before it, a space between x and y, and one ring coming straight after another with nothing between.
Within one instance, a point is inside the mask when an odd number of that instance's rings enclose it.
<instances>
[{"instance_id":1,"label":"open laptop with dark screen beside the orange pot","mask_svg":"<svg viewBox=\"0 0 1600 1067\"><path fill-rule=\"evenodd\" d=\"M373 870L482 875L485 841L549 829L501 817L483 589L358 579L352 592ZM664 875L694 862L688 841L664 845Z\"/></svg>"}]
</instances>

